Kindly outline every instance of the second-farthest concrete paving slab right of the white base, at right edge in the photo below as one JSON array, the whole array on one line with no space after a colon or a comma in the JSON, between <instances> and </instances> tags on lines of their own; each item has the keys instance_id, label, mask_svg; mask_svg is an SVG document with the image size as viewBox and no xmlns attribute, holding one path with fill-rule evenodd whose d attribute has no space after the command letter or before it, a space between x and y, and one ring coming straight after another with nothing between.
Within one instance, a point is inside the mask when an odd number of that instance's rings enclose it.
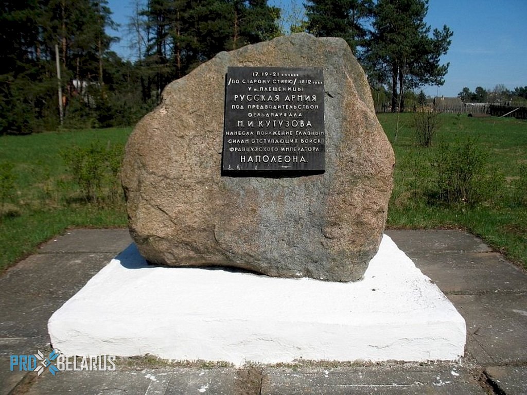
<instances>
[{"instance_id":1,"label":"second-farthest concrete paving slab right of the white base, at right edge","mask_svg":"<svg viewBox=\"0 0 527 395\"><path fill-rule=\"evenodd\" d=\"M448 293L527 292L525 273L496 252L414 252L421 271Z\"/></svg>"}]
</instances>

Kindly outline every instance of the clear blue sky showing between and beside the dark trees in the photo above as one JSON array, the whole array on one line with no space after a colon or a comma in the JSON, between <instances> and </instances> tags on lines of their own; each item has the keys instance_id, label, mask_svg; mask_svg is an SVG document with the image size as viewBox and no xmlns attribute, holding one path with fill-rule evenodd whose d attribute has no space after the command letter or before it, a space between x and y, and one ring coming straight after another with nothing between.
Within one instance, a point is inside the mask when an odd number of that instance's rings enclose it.
<instances>
[{"instance_id":1,"label":"clear blue sky showing between and beside the dark trees","mask_svg":"<svg viewBox=\"0 0 527 395\"><path fill-rule=\"evenodd\" d=\"M295 0L297 6L303 1ZM126 23L135 0L109 0L113 20L121 25L121 43L112 49L124 58ZM291 2L269 4L289 8ZM463 87L492 90L503 84L513 90L527 86L527 0L430 0L426 23L433 28L447 25L454 32L452 45L442 62L450 62L443 86L424 87L427 95L456 96Z\"/></svg>"}]
</instances>

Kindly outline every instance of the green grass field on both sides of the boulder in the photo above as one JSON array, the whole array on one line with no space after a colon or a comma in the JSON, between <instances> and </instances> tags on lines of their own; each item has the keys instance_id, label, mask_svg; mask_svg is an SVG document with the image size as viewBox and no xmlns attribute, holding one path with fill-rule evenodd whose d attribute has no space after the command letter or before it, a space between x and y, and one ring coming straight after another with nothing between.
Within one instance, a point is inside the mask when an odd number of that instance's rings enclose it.
<instances>
[{"instance_id":1,"label":"green grass field on both sides of the boulder","mask_svg":"<svg viewBox=\"0 0 527 395\"><path fill-rule=\"evenodd\" d=\"M388 226L466 229L527 268L527 122L442 114L433 144L425 148L416 144L413 114L378 117L397 161ZM16 176L0 211L0 271L69 226L126 225L122 196L86 202L61 152L94 142L122 151L130 132L125 128L0 136L0 165L13 166ZM456 151L458 147L468 151ZM474 157L479 162L469 161L473 191L459 200L441 199L447 182L438 176L440 170L448 160L462 167L460 163Z\"/></svg>"}]
</instances>

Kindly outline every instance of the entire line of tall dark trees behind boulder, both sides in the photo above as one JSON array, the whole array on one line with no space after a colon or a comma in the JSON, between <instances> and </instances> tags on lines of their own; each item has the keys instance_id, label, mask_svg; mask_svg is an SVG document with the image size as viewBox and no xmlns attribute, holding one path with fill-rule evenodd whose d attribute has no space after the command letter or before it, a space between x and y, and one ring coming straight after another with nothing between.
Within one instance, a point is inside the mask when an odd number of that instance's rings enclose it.
<instances>
[{"instance_id":1,"label":"entire line of tall dark trees behind boulder, both sides","mask_svg":"<svg viewBox=\"0 0 527 395\"><path fill-rule=\"evenodd\" d=\"M6 0L0 13L0 133L134 124L163 88L220 51L285 34L266 0L139 0L126 29L134 61L117 40L106 0ZM453 35L424 22L427 0L309 0L291 32L343 37L392 111L405 93L442 85L440 58ZM57 82L56 57L61 80ZM58 85L61 97L58 98ZM63 117L58 102L63 106Z\"/></svg>"}]
</instances>

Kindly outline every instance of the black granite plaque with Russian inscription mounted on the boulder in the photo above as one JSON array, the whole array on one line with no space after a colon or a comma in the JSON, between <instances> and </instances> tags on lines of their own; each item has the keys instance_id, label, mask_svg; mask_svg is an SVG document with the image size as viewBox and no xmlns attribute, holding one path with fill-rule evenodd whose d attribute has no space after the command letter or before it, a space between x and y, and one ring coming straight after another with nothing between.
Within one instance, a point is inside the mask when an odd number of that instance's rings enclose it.
<instances>
[{"instance_id":1,"label":"black granite plaque with Russian inscription mounted on the boulder","mask_svg":"<svg viewBox=\"0 0 527 395\"><path fill-rule=\"evenodd\" d=\"M229 67L223 172L325 170L321 68Z\"/></svg>"}]
</instances>

